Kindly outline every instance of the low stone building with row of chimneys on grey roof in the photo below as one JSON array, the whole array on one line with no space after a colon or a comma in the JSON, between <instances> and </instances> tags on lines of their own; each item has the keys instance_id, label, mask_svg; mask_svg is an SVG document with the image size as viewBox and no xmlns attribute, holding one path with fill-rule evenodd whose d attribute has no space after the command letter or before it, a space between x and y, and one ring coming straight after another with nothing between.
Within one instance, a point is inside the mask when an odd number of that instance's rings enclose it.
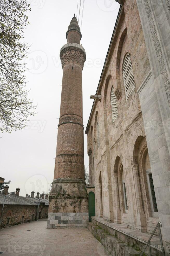
<instances>
[{"instance_id":1,"label":"low stone building with row of chimneys on grey roof","mask_svg":"<svg viewBox=\"0 0 170 256\"><path fill-rule=\"evenodd\" d=\"M15 195L9 195L8 189L9 186L6 185L3 194L0 194L0 228L48 217L48 194L42 194L42 198L39 198L40 193L34 197L32 191L31 197L28 197L28 194L24 197L19 196L19 188L16 189Z\"/></svg>"}]
</instances>

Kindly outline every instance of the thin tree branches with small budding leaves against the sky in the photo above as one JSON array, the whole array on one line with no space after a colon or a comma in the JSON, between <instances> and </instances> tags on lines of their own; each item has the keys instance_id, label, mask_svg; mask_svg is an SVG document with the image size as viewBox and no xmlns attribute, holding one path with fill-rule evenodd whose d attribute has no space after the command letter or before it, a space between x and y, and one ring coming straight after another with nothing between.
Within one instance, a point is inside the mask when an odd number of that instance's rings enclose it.
<instances>
[{"instance_id":1,"label":"thin tree branches with small budding leaves against the sky","mask_svg":"<svg viewBox=\"0 0 170 256\"><path fill-rule=\"evenodd\" d=\"M36 106L28 99L24 57L29 45L23 42L29 24L27 0L0 1L0 131L23 129Z\"/></svg>"}]
</instances>

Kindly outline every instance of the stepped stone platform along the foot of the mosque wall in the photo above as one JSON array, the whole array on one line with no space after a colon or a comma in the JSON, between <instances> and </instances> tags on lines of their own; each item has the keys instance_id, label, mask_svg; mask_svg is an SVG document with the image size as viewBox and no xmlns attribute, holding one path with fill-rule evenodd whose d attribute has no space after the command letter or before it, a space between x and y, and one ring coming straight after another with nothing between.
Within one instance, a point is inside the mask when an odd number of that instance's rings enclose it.
<instances>
[{"instance_id":1,"label":"stepped stone platform along the foot of the mosque wall","mask_svg":"<svg viewBox=\"0 0 170 256\"><path fill-rule=\"evenodd\" d=\"M126 224L109 223L103 218L91 217L92 222L87 223L88 230L97 240L114 256L163 256L164 250L160 237L140 232L128 227ZM146 246L148 243L150 246ZM145 248L146 247L146 248ZM145 252L141 252L145 249Z\"/></svg>"}]
</instances>

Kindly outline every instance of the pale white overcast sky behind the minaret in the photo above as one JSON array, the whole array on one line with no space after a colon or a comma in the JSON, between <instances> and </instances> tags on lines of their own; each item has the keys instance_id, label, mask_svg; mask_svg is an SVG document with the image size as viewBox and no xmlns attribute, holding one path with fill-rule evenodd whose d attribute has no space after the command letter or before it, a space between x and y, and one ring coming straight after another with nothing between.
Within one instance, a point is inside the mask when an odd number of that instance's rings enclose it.
<instances>
[{"instance_id":1,"label":"pale white overcast sky behind the minaret","mask_svg":"<svg viewBox=\"0 0 170 256\"><path fill-rule=\"evenodd\" d=\"M0 176L11 180L9 191L19 187L20 195L46 192L54 177L57 125L60 114L62 67L59 58L66 44L66 31L75 13L77 0L29 0L30 25L25 41L32 44L26 72L29 97L37 106L24 130L1 133ZM80 0L79 0L80 3ZM82 5L79 25L81 26ZM83 122L87 124L100 74L120 5L115 0L85 0L81 44L87 60L83 68ZM79 8L78 8L79 9ZM79 10L78 10L79 13ZM86 128L86 127L85 127ZM89 165L84 129L84 165Z\"/></svg>"}]
</instances>

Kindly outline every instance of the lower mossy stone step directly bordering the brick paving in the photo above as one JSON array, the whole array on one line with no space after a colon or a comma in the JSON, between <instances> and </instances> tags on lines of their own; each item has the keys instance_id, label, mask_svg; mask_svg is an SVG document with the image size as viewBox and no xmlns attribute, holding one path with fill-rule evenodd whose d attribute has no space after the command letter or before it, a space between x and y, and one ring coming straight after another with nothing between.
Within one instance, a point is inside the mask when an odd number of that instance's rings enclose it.
<instances>
[{"instance_id":1,"label":"lower mossy stone step directly bordering the brick paving","mask_svg":"<svg viewBox=\"0 0 170 256\"><path fill-rule=\"evenodd\" d=\"M107 249L107 251L114 256L124 255L124 256L137 256L140 255L139 251L128 246L126 243L122 242L118 238L110 235L104 229L100 229L99 226L88 222L87 228L94 235L95 238Z\"/></svg>"}]
</instances>

